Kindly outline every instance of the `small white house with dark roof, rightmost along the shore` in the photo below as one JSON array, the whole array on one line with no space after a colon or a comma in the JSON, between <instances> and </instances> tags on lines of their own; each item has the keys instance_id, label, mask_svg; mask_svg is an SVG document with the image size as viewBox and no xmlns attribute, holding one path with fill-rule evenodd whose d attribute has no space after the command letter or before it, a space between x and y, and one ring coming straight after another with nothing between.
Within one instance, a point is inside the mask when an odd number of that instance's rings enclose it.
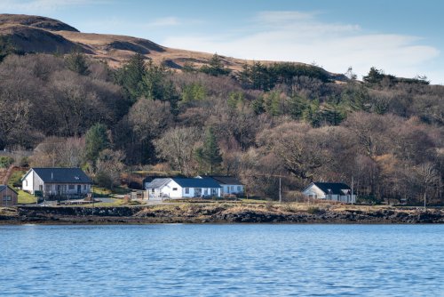
<instances>
[{"instance_id":1,"label":"small white house with dark roof, rightmost along the shore","mask_svg":"<svg viewBox=\"0 0 444 297\"><path fill-rule=\"evenodd\" d=\"M352 195L352 189L341 182L312 182L302 194L305 197L355 203L356 195Z\"/></svg>"}]
</instances>

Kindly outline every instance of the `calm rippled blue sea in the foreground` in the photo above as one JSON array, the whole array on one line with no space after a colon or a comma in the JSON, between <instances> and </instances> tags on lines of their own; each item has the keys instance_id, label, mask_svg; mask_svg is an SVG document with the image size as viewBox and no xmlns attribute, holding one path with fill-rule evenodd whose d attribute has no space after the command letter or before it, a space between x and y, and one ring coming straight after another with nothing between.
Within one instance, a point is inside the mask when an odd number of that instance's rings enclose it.
<instances>
[{"instance_id":1,"label":"calm rippled blue sea in the foreground","mask_svg":"<svg viewBox=\"0 0 444 297\"><path fill-rule=\"evenodd\" d=\"M444 225L0 226L0 295L444 296Z\"/></svg>"}]
</instances>

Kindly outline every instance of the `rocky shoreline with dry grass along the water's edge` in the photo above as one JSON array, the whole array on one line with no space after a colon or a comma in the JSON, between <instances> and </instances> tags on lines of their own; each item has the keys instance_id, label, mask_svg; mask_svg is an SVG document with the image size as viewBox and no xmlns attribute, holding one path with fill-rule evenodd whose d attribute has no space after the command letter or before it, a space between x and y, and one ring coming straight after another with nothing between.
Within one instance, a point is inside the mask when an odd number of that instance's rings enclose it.
<instances>
[{"instance_id":1,"label":"rocky shoreline with dry grass along the water's edge","mask_svg":"<svg viewBox=\"0 0 444 297\"><path fill-rule=\"evenodd\" d=\"M31 207L3 209L0 224L149 223L444 223L444 211L289 205L159 205L119 207Z\"/></svg>"}]
</instances>

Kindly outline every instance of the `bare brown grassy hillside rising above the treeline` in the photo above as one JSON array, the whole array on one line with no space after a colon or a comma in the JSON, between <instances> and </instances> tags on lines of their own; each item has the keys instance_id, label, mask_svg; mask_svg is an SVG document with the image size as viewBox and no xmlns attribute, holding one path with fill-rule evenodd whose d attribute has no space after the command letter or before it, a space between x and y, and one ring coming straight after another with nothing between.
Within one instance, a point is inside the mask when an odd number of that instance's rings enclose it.
<instances>
[{"instance_id":1,"label":"bare brown grassy hillside rising above the treeline","mask_svg":"<svg viewBox=\"0 0 444 297\"><path fill-rule=\"evenodd\" d=\"M186 62L200 67L208 64L213 53L168 48L143 38L82 33L59 20L22 14L0 14L0 36L10 36L22 52L68 53L75 49L103 60L112 68L120 67L139 53L156 63L180 69ZM221 56L227 68L240 70L245 60ZM272 61L263 61L269 64ZM300 63L303 64L303 63ZM326 72L335 80L346 77Z\"/></svg>"}]
</instances>

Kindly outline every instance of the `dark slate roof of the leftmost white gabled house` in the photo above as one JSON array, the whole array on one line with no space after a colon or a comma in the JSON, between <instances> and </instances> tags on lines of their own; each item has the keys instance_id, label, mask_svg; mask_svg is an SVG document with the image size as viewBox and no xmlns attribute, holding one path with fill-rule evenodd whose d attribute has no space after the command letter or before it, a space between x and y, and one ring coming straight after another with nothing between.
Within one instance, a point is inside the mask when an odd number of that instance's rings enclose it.
<instances>
[{"instance_id":1,"label":"dark slate roof of the leftmost white gabled house","mask_svg":"<svg viewBox=\"0 0 444 297\"><path fill-rule=\"evenodd\" d=\"M80 168L32 168L47 183L92 183Z\"/></svg>"}]
</instances>

